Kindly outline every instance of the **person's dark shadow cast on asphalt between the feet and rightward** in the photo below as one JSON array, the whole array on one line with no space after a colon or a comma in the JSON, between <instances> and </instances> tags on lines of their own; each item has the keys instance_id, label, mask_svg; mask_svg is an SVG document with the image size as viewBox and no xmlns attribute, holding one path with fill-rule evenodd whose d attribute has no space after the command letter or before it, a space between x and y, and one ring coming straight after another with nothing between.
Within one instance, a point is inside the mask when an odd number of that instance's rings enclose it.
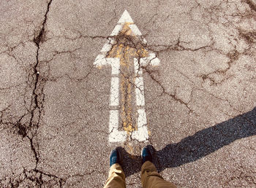
<instances>
[{"instance_id":1,"label":"person's dark shadow cast on asphalt between the feet and rightward","mask_svg":"<svg viewBox=\"0 0 256 188\"><path fill-rule=\"evenodd\" d=\"M256 135L256 108L211 128L198 131L176 144L154 151L155 165L158 171L175 168L187 162L193 162L231 144L241 138ZM140 156L132 156L123 149L124 173L131 176L140 171Z\"/></svg>"}]
</instances>

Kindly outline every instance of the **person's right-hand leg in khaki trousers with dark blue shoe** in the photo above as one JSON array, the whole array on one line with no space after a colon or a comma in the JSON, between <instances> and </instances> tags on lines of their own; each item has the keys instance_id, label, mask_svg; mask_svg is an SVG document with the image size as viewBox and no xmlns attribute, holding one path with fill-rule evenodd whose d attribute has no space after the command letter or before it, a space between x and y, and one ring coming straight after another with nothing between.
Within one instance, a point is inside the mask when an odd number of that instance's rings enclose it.
<instances>
[{"instance_id":1,"label":"person's right-hand leg in khaki trousers with dark blue shoe","mask_svg":"<svg viewBox=\"0 0 256 188\"><path fill-rule=\"evenodd\" d=\"M141 184L144 188L170 188L176 187L175 184L165 181L162 176L157 173L157 168L152 163L152 154L149 146L143 148L141 152L143 165L141 167Z\"/></svg>"}]
</instances>

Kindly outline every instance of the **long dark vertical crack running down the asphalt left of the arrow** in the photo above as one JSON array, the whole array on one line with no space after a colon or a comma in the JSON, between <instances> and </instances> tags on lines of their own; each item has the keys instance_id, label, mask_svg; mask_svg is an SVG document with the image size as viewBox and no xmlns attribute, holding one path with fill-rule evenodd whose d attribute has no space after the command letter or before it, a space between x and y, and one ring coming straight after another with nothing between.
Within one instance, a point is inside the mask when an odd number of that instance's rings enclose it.
<instances>
[{"instance_id":1,"label":"long dark vertical crack running down the asphalt left of the arrow","mask_svg":"<svg viewBox=\"0 0 256 188\"><path fill-rule=\"evenodd\" d=\"M31 104L30 109L27 109L29 111L29 114L31 115L29 120L29 125L21 123L21 120L23 117L26 116L26 114L23 114L23 116L20 117L18 122L14 124L14 127L17 128L18 134L20 136L23 136L29 139L29 144L31 146L31 151L34 154L35 159L35 167L34 169L27 171L25 168L23 169L23 173L20 173L18 176L13 176L11 178L6 177L4 179L0 179L0 186L4 187L4 184L10 184L11 187L19 187L20 184L23 183L23 181L30 181L26 182L27 184L33 184L34 186L42 187L43 185L52 186L53 182L54 184L58 184L59 187L63 187L64 183L66 182L65 179L62 179L54 174L45 173L44 171L41 171L37 168L38 162L39 162L39 145L38 143L35 144L34 138L37 137L37 129L39 128L40 120L42 119L42 110L43 110L43 103L45 100L45 95L43 93L44 85L45 85L45 79L41 78L39 76L39 50L40 50L40 44L45 42L45 26L48 18L48 12L50 10L50 4L53 0L50 0L47 4L47 10L44 15L44 20L42 21L42 28L39 31L39 34L37 36L34 36L34 44L37 46L37 52L36 52L36 63L33 68L33 73L29 74L29 79L27 80L28 85L34 85L32 87L32 95L31 95ZM8 88L7 88L8 89ZM24 101L25 98L24 98ZM1 122L2 122L2 116L3 111L1 111ZM8 123L8 122L7 122ZM10 122L11 123L11 122ZM12 124L12 123L11 123ZM31 133L29 133L31 132ZM48 176L51 180L48 181L44 179L44 176Z\"/></svg>"}]
</instances>

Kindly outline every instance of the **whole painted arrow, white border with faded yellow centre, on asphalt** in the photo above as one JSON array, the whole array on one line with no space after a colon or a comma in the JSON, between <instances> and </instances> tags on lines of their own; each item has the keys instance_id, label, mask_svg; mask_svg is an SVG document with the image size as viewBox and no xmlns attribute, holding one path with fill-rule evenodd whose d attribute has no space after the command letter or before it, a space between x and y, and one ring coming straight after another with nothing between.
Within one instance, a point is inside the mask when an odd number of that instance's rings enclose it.
<instances>
[{"instance_id":1,"label":"whole painted arrow, white border with faded yellow centre, on asphalt","mask_svg":"<svg viewBox=\"0 0 256 188\"><path fill-rule=\"evenodd\" d=\"M109 142L148 139L143 66L158 66L160 60L145 46L146 39L125 10L94 61L97 67L112 68Z\"/></svg>"}]
</instances>

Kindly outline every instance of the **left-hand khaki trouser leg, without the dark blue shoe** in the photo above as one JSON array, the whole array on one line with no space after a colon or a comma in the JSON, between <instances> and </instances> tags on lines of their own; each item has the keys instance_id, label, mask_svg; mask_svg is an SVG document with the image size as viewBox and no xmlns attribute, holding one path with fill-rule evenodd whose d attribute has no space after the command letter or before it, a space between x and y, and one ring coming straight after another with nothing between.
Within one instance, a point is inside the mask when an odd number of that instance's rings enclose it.
<instances>
[{"instance_id":1,"label":"left-hand khaki trouser leg, without the dark blue shoe","mask_svg":"<svg viewBox=\"0 0 256 188\"><path fill-rule=\"evenodd\" d=\"M118 163L113 164L110 167L108 180L105 183L104 188L125 188L125 175Z\"/></svg>"}]
</instances>

